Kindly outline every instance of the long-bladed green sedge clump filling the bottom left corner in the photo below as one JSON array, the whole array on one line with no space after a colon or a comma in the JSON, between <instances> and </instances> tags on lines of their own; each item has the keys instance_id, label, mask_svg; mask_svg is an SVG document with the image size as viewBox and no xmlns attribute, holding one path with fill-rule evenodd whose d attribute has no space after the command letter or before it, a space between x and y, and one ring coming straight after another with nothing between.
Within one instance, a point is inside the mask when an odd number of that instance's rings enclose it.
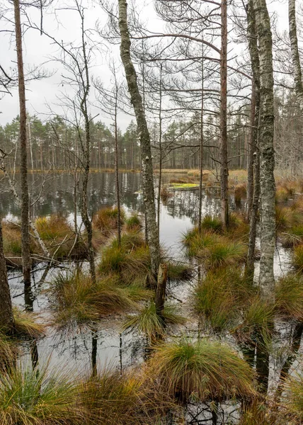
<instances>
[{"instance_id":1,"label":"long-bladed green sedge clump filling the bottom left corner","mask_svg":"<svg viewBox=\"0 0 303 425\"><path fill-rule=\"evenodd\" d=\"M0 423L7 425L83 424L76 383L47 368L13 368L0 376Z\"/></svg>"}]
</instances>

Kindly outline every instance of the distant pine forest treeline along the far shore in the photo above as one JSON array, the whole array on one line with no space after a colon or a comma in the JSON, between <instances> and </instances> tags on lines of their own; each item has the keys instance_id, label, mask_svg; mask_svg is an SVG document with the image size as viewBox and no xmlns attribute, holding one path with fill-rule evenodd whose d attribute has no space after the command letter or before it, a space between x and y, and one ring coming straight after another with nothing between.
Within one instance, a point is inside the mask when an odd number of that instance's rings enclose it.
<instances>
[{"instance_id":1,"label":"distant pine forest treeline along the far shore","mask_svg":"<svg viewBox=\"0 0 303 425\"><path fill-rule=\"evenodd\" d=\"M190 113L189 113L190 115ZM246 169L248 166L250 106L241 113L229 108L228 114L229 168ZM276 166L292 175L302 173L303 148L301 136L303 121L293 91L275 91L275 154ZM219 115L210 115L203 125L205 143L203 167L216 169L219 162ZM150 126L154 166L159 167L159 125ZM33 170L68 170L79 163L80 142L78 130L63 118L56 116L45 123L37 116L28 115L28 168ZM84 130L83 134L84 134ZM7 169L18 169L19 119L18 116L0 126L0 145L10 155ZM162 168L198 169L200 122L197 113L188 120L173 120L163 135L161 143ZM118 130L120 169L140 169L141 157L137 125L131 121L125 132ZM91 167L113 169L115 165L115 136L101 122L91 121Z\"/></svg>"}]
</instances>

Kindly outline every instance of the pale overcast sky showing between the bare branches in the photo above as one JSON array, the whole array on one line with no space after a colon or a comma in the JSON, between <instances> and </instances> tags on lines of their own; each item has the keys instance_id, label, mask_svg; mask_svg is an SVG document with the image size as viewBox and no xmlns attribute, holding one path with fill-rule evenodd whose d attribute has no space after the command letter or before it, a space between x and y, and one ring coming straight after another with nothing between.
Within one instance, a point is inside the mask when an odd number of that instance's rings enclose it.
<instances>
[{"instance_id":1,"label":"pale overcast sky showing between the bare branches","mask_svg":"<svg viewBox=\"0 0 303 425\"><path fill-rule=\"evenodd\" d=\"M88 4L88 1L84 1L84 4ZM60 2L60 5L62 2ZM100 21L103 26L107 21L107 16L102 11L98 4L91 4L86 11L86 28L95 28L96 21ZM137 0L138 9L140 16L147 22L149 28L153 31L161 30L161 22L156 17L156 13L153 8L153 0ZM268 1L270 12L275 11L278 14L278 23L281 29L287 29L287 4L285 0L271 0ZM38 11L30 11L31 16L35 22L39 23L40 16ZM8 13L7 16L11 16ZM64 42L71 42L79 40L80 29L79 29L79 16L73 11L57 11L57 17L59 23L54 19L52 15L44 16L44 27L45 30L52 33L58 40L64 40ZM5 19L0 21L0 30L11 29L9 23L6 23ZM1 32L1 59L0 63L4 69L10 69L16 67L16 51L14 46L14 38L9 33ZM96 39L96 38L95 38ZM98 41L101 41L100 39ZM120 62L118 46L111 48L113 57L118 64ZM36 30L28 30L25 33L24 45L23 45L23 60L25 67L38 67L38 65L50 61L50 57L58 56L57 48L50 43L50 40L45 36L40 36ZM93 67L91 73L100 77L104 84L110 84L110 72L107 67L108 54L96 55L93 59ZM32 81L27 85L27 109L30 115L36 114L41 120L46 120L50 116L50 110L47 106L51 105L52 110L55 113L61 113L62 109L59 107L61 91L69 93L68 86L62 86L62 70L59 69L57 62L47 62L44 65L45 69L49 69L53 72L52 77L42 79L40 81ZM4 98L0 100L0 125L5 125L11 122L13 118L18 115L18 96L16 90L12 92L13 96L6 94ZM96 107L93 107L93 115L100 113L100 118L107 125L110 125L110 121L106 118L101 111L98 111ZM97 118L97 119L98 119ZM120 114L119 126L122 130L125 130L128 123L130 123L130 117L124 114Z\"/></svg>"}]
</instances>

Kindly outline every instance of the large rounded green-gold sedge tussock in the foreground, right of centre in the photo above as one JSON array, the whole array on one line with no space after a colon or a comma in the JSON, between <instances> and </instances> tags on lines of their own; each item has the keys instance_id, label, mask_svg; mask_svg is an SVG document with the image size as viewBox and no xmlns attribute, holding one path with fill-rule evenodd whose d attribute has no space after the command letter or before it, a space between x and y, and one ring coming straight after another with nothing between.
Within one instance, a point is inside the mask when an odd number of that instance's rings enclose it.
<instances>
[{"instance_id":1,"label":"large rounded green-gold sedge tussock in the foreground, right of centre","mask_svg":"<svg viewBox=\"0 0 303 425\"><path fill-rule=\"evenodd\" d=\"M183 401L251 397L253 370L225 344L202 339L180 339L162 344L150 368L168 394Z\"/></svg>"}]
</instances>

